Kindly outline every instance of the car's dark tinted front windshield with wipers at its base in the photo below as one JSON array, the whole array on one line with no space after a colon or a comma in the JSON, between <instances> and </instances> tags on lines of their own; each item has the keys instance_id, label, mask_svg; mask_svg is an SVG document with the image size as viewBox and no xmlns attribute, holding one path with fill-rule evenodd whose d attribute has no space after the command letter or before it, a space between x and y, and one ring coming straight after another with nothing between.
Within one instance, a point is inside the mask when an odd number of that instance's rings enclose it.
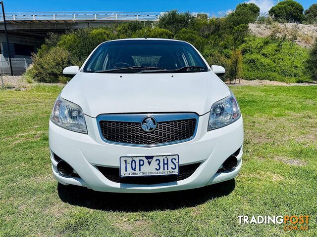
<instances>
[{"instance_id":1,"label":"car's dark tinted front windshield with wipers at its base","mask_svg":"<svg viewBox=\"0 0 317 237\"><path fill-rule=\"evenodd\" d=\"M86 73L206 72L202 57L188 43L172 40L117 40L101 44Z\"/></svg>"}]
</instances>

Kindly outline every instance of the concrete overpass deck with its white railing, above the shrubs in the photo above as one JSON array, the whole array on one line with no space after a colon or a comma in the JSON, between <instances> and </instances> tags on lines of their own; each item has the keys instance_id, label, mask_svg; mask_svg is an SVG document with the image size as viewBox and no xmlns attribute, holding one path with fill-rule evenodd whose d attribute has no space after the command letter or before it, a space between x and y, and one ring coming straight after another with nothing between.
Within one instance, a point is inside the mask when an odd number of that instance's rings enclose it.
<instances>
[{"instance_id":1,"label":"concrete overpass deck with its white railing, above the shrubs","mask_svg":"<svg viewBox=\"0 0 317 237\"><path fill-rule=\"evenodd\" d=\"M8 32L19 35L62 32L128 21L158 21L161 12L10 12L5 14ZM0 32L4 31L0 16Z\"/></svg>"}]
</instances>

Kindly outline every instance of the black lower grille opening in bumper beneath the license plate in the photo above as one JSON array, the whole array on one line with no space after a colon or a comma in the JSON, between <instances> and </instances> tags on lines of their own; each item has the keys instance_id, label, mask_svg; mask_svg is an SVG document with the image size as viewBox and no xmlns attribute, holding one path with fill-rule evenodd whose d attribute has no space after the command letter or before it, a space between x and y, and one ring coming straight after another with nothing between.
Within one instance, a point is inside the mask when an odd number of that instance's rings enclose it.
<instances>
[{"instance_id":1,"label":"black lower grille opening in bumper beneath the license plate","mask_svg":"<svg viewBox=\"0 0 317 237\"><path fill-rule=\"evenodd\" d=\"M178 175L160 175L146 177L120 177L119 168L97 166L99 171L112 182L121 184L162 184L187 179L198 168L200 163L179 166Z\"/></svg>"}]
</instances>

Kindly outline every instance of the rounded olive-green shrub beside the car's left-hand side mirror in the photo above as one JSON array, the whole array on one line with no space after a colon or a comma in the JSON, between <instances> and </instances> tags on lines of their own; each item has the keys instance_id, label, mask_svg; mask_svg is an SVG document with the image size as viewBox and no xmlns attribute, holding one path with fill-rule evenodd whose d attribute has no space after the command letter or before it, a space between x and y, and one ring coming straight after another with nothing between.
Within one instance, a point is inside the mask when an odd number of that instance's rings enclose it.
<instances>
[{"instance_id":1,"label":"rounded olive-green shrub beside the car's left-hand side mirror","mask_svg":"<svg viewBox=\"0 0 317 237\"><path fill-rule=\"evenodd\" d=\"M64 48L52 47L43 57L33 57L33 67L27 74L39 82L58 82L61 80L62 71L70 66L70 53Z\"/></svg>"}]
</instances>

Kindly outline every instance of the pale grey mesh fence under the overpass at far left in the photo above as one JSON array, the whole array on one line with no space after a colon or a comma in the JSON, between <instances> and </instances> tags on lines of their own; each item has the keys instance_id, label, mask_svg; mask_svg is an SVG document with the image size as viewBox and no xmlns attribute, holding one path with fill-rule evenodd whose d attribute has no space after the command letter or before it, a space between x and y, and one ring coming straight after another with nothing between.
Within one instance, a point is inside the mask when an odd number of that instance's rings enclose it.
<instances>
[{"instance_id":1,"label":"pale grey mesh fence under the overpass at far left","mask_svg":"<svg viewBox=\"0 0 317 237\"><path fill-rule=\"evenodd\" d=\"M11 58L12 62L12 73L13 76L22 75L26 69L32 64L32 59L30 58ZM9 59L0 57L0 73L2 75L11 75Z\"/></svg>"}]
</instances>

